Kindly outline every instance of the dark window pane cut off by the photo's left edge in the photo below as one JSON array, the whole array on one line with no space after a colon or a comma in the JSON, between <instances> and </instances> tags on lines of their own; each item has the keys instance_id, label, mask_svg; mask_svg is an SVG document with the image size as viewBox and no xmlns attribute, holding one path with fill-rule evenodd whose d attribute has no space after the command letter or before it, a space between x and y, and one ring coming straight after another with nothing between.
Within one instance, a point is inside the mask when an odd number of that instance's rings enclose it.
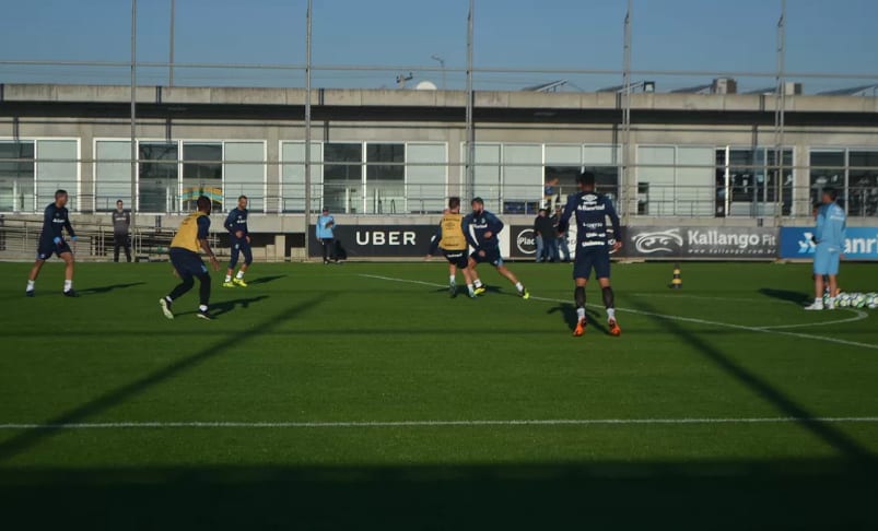
<instances>
[{"instance_id":1,"label":"dark window pane cut off by the photo's left edge","mask_svg":"<svg viewBox=\"0 0 878 531\"><path fill-rule=\"evenodd\" d=\"M0 212L34 208L34 142L0 141Z\"/></svg>"}]
</instances>

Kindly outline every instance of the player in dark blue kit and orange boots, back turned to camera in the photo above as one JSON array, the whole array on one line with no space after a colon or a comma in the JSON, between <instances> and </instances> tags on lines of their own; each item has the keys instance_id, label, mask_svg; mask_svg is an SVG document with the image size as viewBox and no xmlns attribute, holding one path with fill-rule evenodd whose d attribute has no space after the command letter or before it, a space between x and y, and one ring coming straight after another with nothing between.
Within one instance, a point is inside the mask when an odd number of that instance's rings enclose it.
<instances>
[{"instance_id":1,"label":"player in dark blue kit and orange boots, back turned to camera","mask_svg":"<svg viewBox=\"0 0 878 531\"><path fill-rule=\"evenodd\" d=\"M621 335L622 329L616 320L616 297L610 287L610 250L619 250L622 243L617 238L619 215L610 198L595 191L595 174L583 172L580 175L580 193L567 198L567 205L559 222L559 232L566 232L571 217L576 216L576 258L573 266L573 280L576 283L576 329L573 335L585 333L585 285L595 272L604 294L607 308L607 323L612 335ZM607 217L612 224L610 236ZM562 231L563 228L563 231Z\"/></svg>"}]
</instances>

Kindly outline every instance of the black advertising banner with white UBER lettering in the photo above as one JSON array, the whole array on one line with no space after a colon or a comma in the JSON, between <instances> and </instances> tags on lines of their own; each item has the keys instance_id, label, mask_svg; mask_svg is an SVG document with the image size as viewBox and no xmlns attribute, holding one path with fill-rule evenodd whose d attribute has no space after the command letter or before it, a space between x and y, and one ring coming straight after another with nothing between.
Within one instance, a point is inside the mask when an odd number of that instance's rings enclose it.
<instances>
[{"instance_id":1,"label":"black advertising banner with white UBER lettering","mask_svg":"<svg viewBox=\"0 0 878 531\"><path fill-rule=\"evenodd\" d=\"M348 258L422 257L430 250L436 225L339 225L336 241ZM308 228L312 257L323 256L314 225Z\"/></svg>"}]
</instances>

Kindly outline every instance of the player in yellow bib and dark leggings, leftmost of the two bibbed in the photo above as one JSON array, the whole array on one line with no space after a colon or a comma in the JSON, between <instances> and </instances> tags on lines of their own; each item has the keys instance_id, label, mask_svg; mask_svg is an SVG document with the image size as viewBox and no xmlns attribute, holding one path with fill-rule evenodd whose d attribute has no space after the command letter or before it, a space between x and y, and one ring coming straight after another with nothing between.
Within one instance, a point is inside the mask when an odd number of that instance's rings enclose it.
<instances>
[{"instance_id":1,"label":"player in yellow bib and dark leggings, leftmost of the two bibbed","mask_svg":"<svg viewBox=\"0 0 878 531\"><path fill-rule=\"evenodd\" d=\"M216 256L210 248L208 243L208 233L210 229L210 199L206 196L198 198L198 211L187 215L180 223L177 234L171 241L171 264L183 282L175 287L166 297L159 300L162 307L162 312L168 319L174 318L174 312L171 305L174 300L185 295L195 285L195 280L201 282L199 290L200 305L198 306L198 314L201 319L211 320L212 317L208 309L210 304L210 273L204 262L201 261L199 251L203 250L210 258L210 264L213 271L220 270L220 262L216 261Z\"/></svg>"}]
</instances>

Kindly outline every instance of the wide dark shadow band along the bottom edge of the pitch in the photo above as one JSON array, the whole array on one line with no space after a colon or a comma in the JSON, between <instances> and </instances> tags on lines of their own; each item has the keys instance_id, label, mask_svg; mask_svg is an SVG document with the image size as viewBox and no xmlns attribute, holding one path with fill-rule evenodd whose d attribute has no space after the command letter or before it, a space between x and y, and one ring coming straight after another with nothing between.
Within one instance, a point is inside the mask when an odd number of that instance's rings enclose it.
<instances>
[{"instance_id":1,"label":"wide dark shadow band along the bottom edge of the pitch","mask_svg":"<svg viewBox=\"0 0 878 531\"><path fill-rule=\"evenodd\" d=\"M874 473L839 459L8 469L0 508L9 529L871 529Z\"/></svg>"}]
</instances>

